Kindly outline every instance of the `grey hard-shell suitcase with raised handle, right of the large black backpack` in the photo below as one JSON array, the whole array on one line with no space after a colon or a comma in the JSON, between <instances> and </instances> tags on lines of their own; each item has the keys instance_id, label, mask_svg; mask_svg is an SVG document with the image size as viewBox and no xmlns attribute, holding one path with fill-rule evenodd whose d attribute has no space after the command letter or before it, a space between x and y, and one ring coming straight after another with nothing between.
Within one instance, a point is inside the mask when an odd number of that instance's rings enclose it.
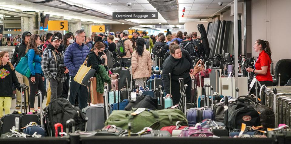
<instances>
[{"instance_id":1,"label":"grey hard-shell suitcase with raised handle, right of the large black backpack","mask_svg":"<svg viewBox=\"0 0 291 144\"><path fill-rule=\"evenodd\" d=\"M91 81L89 82L91 85ZM91 89L89 87L89 105L82 109L82 112L85 113L85 116L88 118L87 129L86 131L94 131L97 129L102 129L105 122L105 108L103 103L90 105L91 103ZM104 101L105 102L105 101Z\"/></svg>"}]
</instances>

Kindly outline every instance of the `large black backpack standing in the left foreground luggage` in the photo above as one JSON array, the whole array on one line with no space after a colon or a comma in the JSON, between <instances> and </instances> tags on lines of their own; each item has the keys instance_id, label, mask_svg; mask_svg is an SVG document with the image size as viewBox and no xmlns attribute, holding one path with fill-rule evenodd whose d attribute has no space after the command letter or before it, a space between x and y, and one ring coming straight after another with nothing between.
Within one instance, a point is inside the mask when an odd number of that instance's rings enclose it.
<instances>
[{"instance_id":1,"label":"large black backpack standing in the left foreground luggage","mask_svg":"<svg viewBox=\"0 0 291 144\"><path fill-rule=\"evenodd\" d=\"M66 129L66 121L75 120L75 130L85 130L85 115L78 106L73 106L65 98L52 100L44 109L45 131L49 136L55 136L55 124L61 123Z\"/></svg>"}]
</instances>

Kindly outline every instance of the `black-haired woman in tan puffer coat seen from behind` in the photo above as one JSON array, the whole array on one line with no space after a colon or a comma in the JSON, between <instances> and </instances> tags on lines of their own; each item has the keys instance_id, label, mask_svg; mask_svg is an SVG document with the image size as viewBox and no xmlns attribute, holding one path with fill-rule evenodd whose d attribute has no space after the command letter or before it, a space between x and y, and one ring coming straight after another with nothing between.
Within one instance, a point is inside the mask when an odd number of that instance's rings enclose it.
<instances>
[{"instance_id":1,"label":"black-haired woman in tan puffer coat seen from behind","mask_svg":"<svg viewBox=\"0 0 291 144\"><path fill-rule=\"evenodd\" d=\"M152 73L151 54L144 49L144 45L143 38L136 39L136 50L132 53L131 58L132 77L142 87L145 87L145 81Z\"/></svg>"}]
</instances>

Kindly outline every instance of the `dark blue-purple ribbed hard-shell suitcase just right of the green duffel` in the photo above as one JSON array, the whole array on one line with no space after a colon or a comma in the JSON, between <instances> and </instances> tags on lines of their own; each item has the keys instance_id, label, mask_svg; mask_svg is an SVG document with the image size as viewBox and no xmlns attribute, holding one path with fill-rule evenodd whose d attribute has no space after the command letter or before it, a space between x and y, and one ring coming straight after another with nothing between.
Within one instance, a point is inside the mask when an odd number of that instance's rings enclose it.
<instances>
[{"instance_id":1,"label":"dark blue-purple ribbed hard-shell suitcase just right of the green duffel","mask_svg":"<svg viewBox=\"0 0 291 144\"><path fill-rule=\"evenodd\" d=\"M201 122L204 119L214 119L214 112L211 108L191 108L187 110L187 120L189 126L195 126L196 123Z\"/></svg>"}]
</instances>

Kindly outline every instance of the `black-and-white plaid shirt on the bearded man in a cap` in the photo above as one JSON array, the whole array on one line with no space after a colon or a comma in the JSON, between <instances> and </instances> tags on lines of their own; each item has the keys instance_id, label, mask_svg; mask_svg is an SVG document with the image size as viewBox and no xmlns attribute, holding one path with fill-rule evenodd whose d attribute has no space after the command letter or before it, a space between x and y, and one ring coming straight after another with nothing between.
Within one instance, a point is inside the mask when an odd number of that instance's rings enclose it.
<instances>
[{"instance_id":1,"label":"black-and-white plaid shirt on the bearded man in a cap","mask_svg":"<svg viewBox=\"0 0 291 144\"><path fill-rule=\"evenodd\" d=\"M52 52L51 58L49 59L49 51ZM51 49L46 50L43 53L43 57L42 57L42 71L45 75L46 78L48 79L52 79L56 77L57 73L58 73L58 67L57 67L57 62L55 61L55 56L53 55L53 53L55 53L56 55L56 59L58 59L58 53L56 53L55 51L52 51ZM64 52L61 52L61 57L64 57ZM65 82L65 80L67 79L67 76L65 73L61 74L61 82Z\"/></svg>"}]
</instances>

